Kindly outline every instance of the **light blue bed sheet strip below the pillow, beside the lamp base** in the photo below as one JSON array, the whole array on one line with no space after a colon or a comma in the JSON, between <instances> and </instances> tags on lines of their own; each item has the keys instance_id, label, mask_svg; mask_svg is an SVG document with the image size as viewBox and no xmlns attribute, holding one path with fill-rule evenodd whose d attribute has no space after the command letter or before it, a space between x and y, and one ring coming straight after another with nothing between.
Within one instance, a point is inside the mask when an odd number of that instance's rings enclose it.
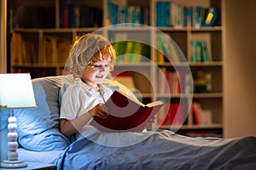
<instances>
[{"instance_id":1,"label":"light blue bed sheet strip below the pillow, beside the lamp base","mask_svg":"<svg viewBox=\"0 0 256 170\"><path fill-rule=\"evenodd\" d=\"M24 148L18 148L19 160L32 161L45 164L56 164L58 157L64 150L55 151L32 151Z\"/></svg>"}]
</instances>

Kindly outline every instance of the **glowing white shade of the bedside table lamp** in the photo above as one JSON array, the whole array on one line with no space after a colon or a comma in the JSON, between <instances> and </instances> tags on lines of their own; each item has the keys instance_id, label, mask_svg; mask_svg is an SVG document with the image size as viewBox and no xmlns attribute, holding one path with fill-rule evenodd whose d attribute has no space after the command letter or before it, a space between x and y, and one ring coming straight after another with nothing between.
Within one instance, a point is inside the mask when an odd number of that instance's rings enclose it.
<instances>
[{"instance_id":1,"label":"glowing white shade of the bedside table lamp","mask_svg":"<svg viewBox=\"0 0 256 170\"><path fill-rule=\"evenodd\" d=\"M29 73L0 74L0 108L36 107Z\"/></svg>"}]
</instances>

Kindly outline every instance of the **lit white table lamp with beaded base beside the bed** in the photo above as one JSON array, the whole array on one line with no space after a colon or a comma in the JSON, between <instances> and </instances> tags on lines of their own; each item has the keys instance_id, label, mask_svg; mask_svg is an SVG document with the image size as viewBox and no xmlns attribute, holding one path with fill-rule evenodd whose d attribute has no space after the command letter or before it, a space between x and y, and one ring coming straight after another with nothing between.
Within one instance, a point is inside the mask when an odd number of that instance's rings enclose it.
<instances>
[{"instance_id":1,"label":"lit white table lamp with beaded base beside the bed","mask_svg":"<svg viewBox=\"0 0 256 170\"><path fill-rule=\"evenodd\" d=\"M18 133L14 109L36 107L29 73L0 74L0 109L9 109L8 119L8 160L1 162L0 167L27 167L24 161L18 160Z\"/></svg>"}]
</instances>

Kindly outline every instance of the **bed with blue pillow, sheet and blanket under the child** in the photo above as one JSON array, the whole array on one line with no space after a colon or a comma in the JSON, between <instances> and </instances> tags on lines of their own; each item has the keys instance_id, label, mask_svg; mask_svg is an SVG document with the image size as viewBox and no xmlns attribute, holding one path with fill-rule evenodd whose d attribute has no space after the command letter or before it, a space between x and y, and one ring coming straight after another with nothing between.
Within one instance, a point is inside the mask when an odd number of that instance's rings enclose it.
<instances>
[{"instance_id":1,"label":"bed with blue pillow, sheet and blanket under the child","mask_svg":"<svg viewBox=\"0 0 256 170\"><path fill-rule=\"evenodd\" d=\"M51 163L57 169L256 168L253 136L190 138L168 130L101 133L94 129L88 138L67 138L59 132L59 109L61 94L70 83L73 83L71 76L32 80L38 107L15 110L20 160ZM123 88L117 82L109 86ZM0 111L3 131L9 111Z\"/></svg>"}]
</instances>

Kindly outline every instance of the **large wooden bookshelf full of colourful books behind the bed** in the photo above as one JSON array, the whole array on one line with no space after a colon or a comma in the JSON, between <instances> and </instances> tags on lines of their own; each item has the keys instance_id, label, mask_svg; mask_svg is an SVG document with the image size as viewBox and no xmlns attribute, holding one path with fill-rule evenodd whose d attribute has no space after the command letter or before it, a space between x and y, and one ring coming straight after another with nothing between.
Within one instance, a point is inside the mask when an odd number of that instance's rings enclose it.
<instances>
[{"instance_id":1,"label":"large wooden bookshelf full of colourful books behind the bed","mask_svg":"<svg viewBox=\"0 0 256 170\"><path fill-rule=\"evenodd\" d=\"M113 3L109 3L113 2ZM182 7L218 8L218 19L214 26L160 26L157 13L158 3L176 3ZM122 14L125 10L139 11L140 19L131 20L124 15L116 15L113 9L116 5L122 6ZM19 8L18 8L19 7ZM124 8L127 9L124 9ZM134 84L139 89L138 97L144 101L163 99L167 102L183 101L189 110L190 101L201 104L203 110L211 111L212 122L207 125L199 125L193 122L193 115L189 112L188 119L178 132L181 133L205 133L216 132L222 136L223 130L223 84L224 84L224 0L128 0L125 4L119 1L96 0L96 1L66 1L46 0L42 1L9 1L10 14L10 42L11 71L31 72L32 78L61 75L67 59L67 49L75 37L84 32L93 32L106 35L115 47L118 54L124 54L115 65L117 72L134 71L132 74ZM120 9L119 9L120 10ZM47 13L45 12L47 11ZM67 13L69 12L69 15ZM91 20L83 18L90 15ZM26 18L26 20L22 20ZM43 20L44 22L42 22ZM123 20L131 22L125 27ZM135 26L136 24L148 26ZM116 26L111 26L117 24ZM161 34L171 37L182 51L188 62L166 62L165 59L158 60L158 54L164 52L156 51L159 48L157 37ZM125 41L124 41L125 40ZM132 44L130 42L135 42ZM139 42L143 42L140 44ZM193 43L206 42L208 48L208 59L193 58ZM140 47L146 49L140 52L126 55L122 47ZM155 47L155 48L152 48ZM26 49L26 50L25 50ZM58 50L61 49L61 50ZM138 55L143 55L139 59ZM189 66L189 71L195 79L198 72L210 75L211 88L208 91L195 91L193 97L183 92L176 92L170 96L159 91L159 68L174 71ZM174 69L173 69L174 68ZM197 89L197 88L196 88ZM172 99L170 99L172 97ZM175 126L163 125L162 128L173 129Z\"/></svg>"}]
</instances>

